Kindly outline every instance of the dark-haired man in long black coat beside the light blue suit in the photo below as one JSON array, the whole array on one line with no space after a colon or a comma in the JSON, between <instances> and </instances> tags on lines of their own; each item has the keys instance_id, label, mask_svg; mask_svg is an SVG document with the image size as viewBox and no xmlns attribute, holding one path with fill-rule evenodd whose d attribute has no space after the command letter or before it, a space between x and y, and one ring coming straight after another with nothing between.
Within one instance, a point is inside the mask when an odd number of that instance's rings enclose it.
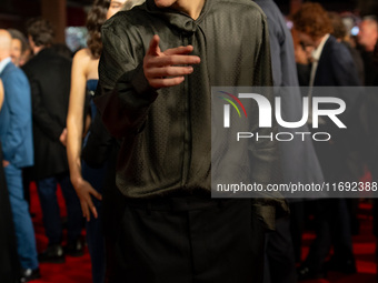
<instances>
[{"instance_id":1,"label":"dark-haired man in long black coat beside the light blue suit","mask_svg":"<svg viewBox=\"0 0 378 283\"><path fill-rule=\"evenodd\" d=\"M43 224L49 239L40 262L64 261L62 223L57 201L60 183L67 205L67 253L81 255L82 214L78 196L70 182L66 153L66 119L70 92L71 61L49 49L53 40L51 24L43 19L28 22L28 38L34 57L23 65L32 94L34 134L34 169Z\"/></svg>"}]
</instances>

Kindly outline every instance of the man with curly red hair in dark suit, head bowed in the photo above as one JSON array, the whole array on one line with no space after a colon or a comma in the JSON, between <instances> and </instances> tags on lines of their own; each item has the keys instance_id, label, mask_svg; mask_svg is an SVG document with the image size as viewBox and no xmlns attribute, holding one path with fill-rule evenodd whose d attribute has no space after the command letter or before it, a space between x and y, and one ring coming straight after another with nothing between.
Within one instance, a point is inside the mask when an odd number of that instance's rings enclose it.
<instances>
[{"instance_id":1,"label":"man with curly red hair in dark suit, head bowed","mask_svg":"<svg viewBox=\"0 0 378 283\"><path fill-rule=\"evenodd\" d=\"M360 85L354 59L347 47L330 36L331 21L319 3L302 4L294 16L294 24L301 43L314 48L310 87ZM318 90L311 88L309 95L325 95L324 91ZM331 122L322 121L317 130L329 132L332 138L329 142L315 142L316 152L326 182L359 181L364 166L359 160L358 144L352 142L354 137L350 132L352 129L356 131L361 129L357 113L362 97L358 94L342 97L341 92L335 92L334 95L341 98L347 104L342 120L348 125L348 131L341 132L332 128ZM305 263L298 270L299 280L321 277L327 270L355 273L356 265L346 200L316 201L315 220L317 237L311 244ZM325 265L331 244L334 256Z\"/></svg>"}]
</instances>

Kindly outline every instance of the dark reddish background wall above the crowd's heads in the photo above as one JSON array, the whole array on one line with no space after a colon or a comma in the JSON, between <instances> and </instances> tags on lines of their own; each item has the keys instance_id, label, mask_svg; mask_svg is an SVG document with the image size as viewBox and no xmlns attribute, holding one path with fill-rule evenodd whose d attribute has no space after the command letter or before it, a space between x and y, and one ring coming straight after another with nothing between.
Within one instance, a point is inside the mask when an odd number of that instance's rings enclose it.
<instances>
[{"instance_id":1,"label":"dark reddish background wall above the crowd's heads","mask_svg":"<svg viewBox=\"0 0 378 283\"><path fill-rule=\"evenodd\" d=\"M296 11L302 0L276 0L285 14ZM378 0L319 0L327 10L351 11L361 16L378 14ZM29 18L43 17L57 30L57 42L64 42L66 27L83 27L92 0L0 0L0 28L24 32Z\"/></svg>"}]
</instances>

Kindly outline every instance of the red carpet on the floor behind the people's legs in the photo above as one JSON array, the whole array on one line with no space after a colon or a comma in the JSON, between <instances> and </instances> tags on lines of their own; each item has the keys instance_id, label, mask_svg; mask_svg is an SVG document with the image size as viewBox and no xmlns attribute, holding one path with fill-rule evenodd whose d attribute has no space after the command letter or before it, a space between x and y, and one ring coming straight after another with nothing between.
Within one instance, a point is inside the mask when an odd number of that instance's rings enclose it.
<instances>
[{"instance_id":1,"label":"red carpet on the floor behind the people's legs","mask_svg":"<svg viewBox=\"0 0 378 283\"><path fill-rule=\"evenodd\" d=\"M66 215L64 201L59 194L59 205L62 216ZM46 249L48 240L44 236L44 230L42 225L42 212L40 209L36 186L31 186L31 212L36 213L33 218L37 247L41 252ZM375 261L376 240L372 235L372 218L371 218L371 204L360 204L359 212L360 220L360 233L354 236L354 251L357 260L358 273L354 275L345 275L341 273L330 272L327 280L312 280L304 281L305 283L374 283L376 281L377 264ZM84 231L83 231L84 233ZM308 246L314 239L314 234L305 233L302 249L302 256L308 253ZM66 256L66 263L63 264L40 264L42 279L32 282L36 283L90 283L91 281L91 265L88 250L81 257ZM148 283L148 282L147 282ZM232 282L230 282L232 283Z\"/></svg>"}]
</instances>

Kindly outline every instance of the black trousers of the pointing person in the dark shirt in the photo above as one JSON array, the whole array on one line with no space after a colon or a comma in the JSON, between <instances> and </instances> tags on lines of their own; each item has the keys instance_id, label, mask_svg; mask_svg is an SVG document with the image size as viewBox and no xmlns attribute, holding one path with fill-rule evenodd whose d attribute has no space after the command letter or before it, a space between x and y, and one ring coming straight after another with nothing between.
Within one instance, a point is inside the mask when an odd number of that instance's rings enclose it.
<instances>
[{"instance_id":1,"label":"black trousers of the pointing person in the dark shirt","mask_svg":"<svg viewBox=\"0 0 378 283\"><path fill-rule=\"evenodd\" d=\"M111 283L262 282L265 230L250 200L127 201L107 242Z\"/></svg>"}]
</instances>

